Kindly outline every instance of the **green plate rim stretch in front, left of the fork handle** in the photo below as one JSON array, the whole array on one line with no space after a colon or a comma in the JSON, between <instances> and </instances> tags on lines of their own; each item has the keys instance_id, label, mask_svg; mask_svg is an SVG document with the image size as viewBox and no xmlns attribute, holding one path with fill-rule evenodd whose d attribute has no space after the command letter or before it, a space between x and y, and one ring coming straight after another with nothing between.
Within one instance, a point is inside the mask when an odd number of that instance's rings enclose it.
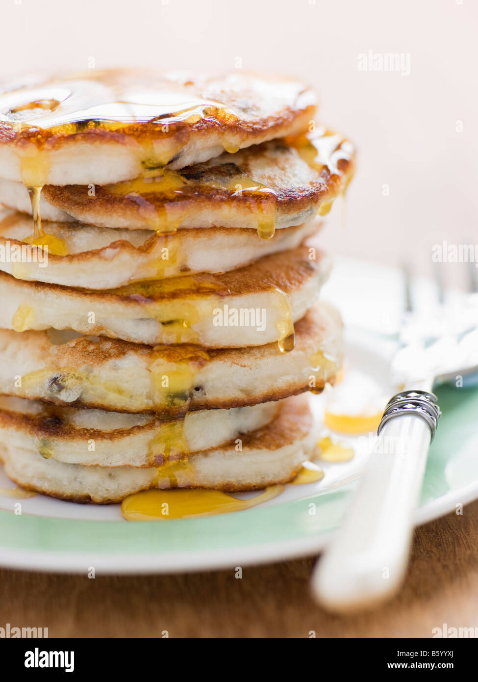
<instances>
[{"instance_id":1,"label":"green plate rim stretch in front, left of the fork handle","mask_svg":"<svg viewBox=\"0 0 478 682\"><path fill-rule=\"evenodd\" d=\"M31 552L101 552L151 553L187 550L224 550L238 545L262 544L295 539L332 530L339 518L329 514L335 506L340 511L346 492L314 495L308 499L258 507L232 514L171 521L95 521L14 516L0 513L1 546ZM316 514L309 514L310 503ZM327 514L320 513L323 506ZM248 515L245 522L244 515ZM324 525L325 519L327 524Z\"/></svg>"}]
</instances>

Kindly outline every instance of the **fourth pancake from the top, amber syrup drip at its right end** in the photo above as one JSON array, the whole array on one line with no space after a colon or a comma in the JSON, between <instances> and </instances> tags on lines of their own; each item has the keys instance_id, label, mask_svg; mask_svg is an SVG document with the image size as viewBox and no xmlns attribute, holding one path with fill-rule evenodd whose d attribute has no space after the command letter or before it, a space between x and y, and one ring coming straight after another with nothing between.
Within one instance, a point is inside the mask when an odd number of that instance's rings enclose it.
<instances>
[{"instance_id":1,"label":"fourth pancake from the top, amber syrup drip at its right end","mask_svg":"<svg viewBox=\"0 0 478 682\"><path fill-rule=\"evenodd\" d=\"M220 275L140 282L110 291L23 282L0 273L0 328L73 329L134 343L209 348L292 342L293 323L318 299L331 261L299 246Z\"/></svg>"}]
</instances>

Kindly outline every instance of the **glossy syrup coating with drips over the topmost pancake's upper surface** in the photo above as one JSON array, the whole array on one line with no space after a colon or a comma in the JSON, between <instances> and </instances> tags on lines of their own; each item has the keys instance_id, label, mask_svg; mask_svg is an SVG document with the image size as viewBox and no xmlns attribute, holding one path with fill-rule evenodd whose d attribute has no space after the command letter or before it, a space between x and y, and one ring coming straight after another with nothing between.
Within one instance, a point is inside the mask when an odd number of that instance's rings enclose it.
<instances>
[{"instance_id":1,"label":"glossy syrup coating with drips over the topmost pancake's upper surface","mask_svg":"<svg viewBox=\"0 0 478 682\"><path fill-rule=\"evenodd\" d=\"M143 168L153 170L181 152L196 126L219 132L223 147L235 153L250 135L250 124L267 127L285 111L293 119L305 111L313 115L315 104L314 93L295 80L281 80L278 88L238 73L205 79L154 70L88 70L10 87L0 94L0 124L18 133L16 142L41 150L97 128L119 132L130 138L132 150L136 144Z\"/></svg>"}]
</instances>

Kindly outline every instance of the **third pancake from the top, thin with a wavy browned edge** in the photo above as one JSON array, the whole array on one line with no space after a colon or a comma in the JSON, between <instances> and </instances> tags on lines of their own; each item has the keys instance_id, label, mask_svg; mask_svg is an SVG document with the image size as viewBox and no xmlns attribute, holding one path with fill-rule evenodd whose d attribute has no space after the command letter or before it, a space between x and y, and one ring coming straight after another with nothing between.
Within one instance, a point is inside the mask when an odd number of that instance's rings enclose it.
<instances>
[{"instance_id":1,"label":"third pancake from the top, thin with a wavy browned edge","mask_svg":"<svg viewBox=\"0 0 478 682\"><path fill-rule=\"evenodd\" d=\"M20 254L25 240L33 234L33 220L16 211L1 211L0 270L27 281L110 289L140 280L233 270L262 256L296 248L319 227L320 222L309 222L282 230L264 241L251 230L240 228L157 235L151 230L44 222L43 229L48 235L45 267L43 258L28 263L23 256L21 263L10 262L18 258L13 256L14 250ZM64 252L67 255L61 255Z\"/></svg>"}]
</instances>

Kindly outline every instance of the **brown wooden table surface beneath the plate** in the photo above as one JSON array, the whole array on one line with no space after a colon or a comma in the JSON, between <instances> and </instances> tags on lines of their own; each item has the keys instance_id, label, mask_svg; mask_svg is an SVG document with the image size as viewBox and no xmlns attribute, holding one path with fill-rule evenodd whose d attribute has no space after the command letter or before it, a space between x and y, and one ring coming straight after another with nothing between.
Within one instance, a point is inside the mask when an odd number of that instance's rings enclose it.
<instances>
[{"instance_id":1,"label":"brown wooden table surface beneath the plate","mask_svg":"<svg viewBox=\"0 0 478 682\"><path fill-rule=\"evenodd\" d=\"M310 601L314 559L181 576L63 576L0 572L0 626L48 627L60 637L430 637L478 627L478 501L415 533L404 589L355 617Z\"/></svg>"}]
</instances>

